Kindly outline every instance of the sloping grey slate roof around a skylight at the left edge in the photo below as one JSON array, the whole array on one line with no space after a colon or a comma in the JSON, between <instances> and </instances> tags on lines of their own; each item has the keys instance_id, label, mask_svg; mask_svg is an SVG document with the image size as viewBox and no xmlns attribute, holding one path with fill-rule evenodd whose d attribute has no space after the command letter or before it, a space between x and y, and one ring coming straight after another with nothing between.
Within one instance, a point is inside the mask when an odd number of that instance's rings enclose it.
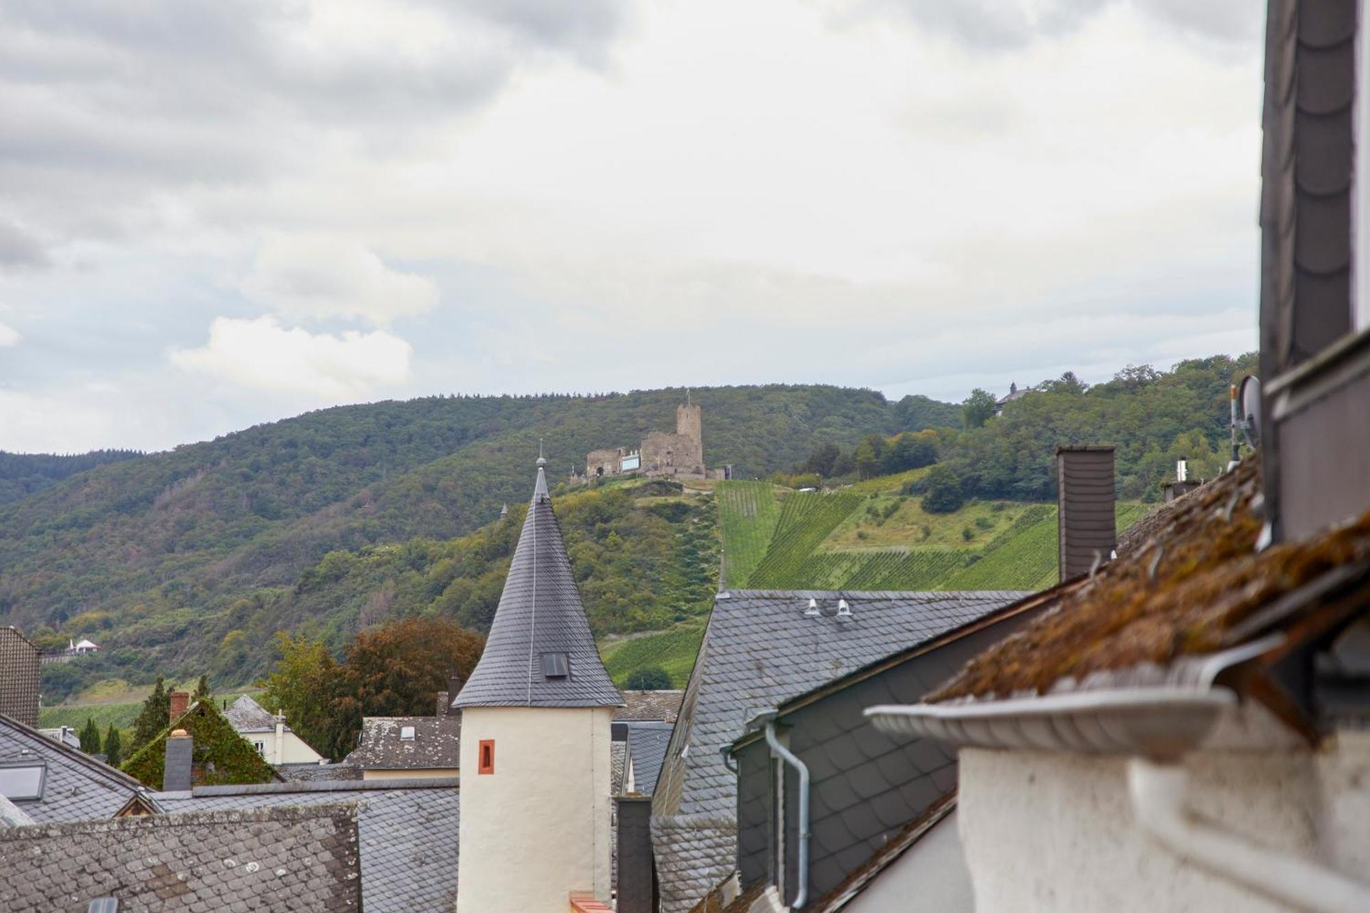
<instances>
[{"instance_id":1,"label":"sloping grey slate roof around a skylight at the left edge","mask_svg":"<svg viewBox=\"0 0 1370 913\"><path fill-rule=\"evenodd\" d=\"M144 792L142 784L122 770L0 717L0 764L27 759L48 765L42 798L15 803L37 824L107 818Z\"/></svg>"}]
</instances>

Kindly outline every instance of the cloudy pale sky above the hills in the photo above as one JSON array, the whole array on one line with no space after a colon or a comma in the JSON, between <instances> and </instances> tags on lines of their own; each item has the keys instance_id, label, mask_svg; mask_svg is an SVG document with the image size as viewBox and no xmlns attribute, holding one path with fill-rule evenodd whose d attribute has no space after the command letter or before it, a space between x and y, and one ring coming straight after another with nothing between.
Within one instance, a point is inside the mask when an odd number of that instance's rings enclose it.
<instances>
[{"instance_id":1,"label":"cloudy pale sky above the hills","mask_svg":"<svg viewBox=\"0 0 1370 913\"><path fill-rule=\"evenodd\" d=\"M5 0L0 450L1255 348L1256 0Z\"/></svg>"}]
</instances>

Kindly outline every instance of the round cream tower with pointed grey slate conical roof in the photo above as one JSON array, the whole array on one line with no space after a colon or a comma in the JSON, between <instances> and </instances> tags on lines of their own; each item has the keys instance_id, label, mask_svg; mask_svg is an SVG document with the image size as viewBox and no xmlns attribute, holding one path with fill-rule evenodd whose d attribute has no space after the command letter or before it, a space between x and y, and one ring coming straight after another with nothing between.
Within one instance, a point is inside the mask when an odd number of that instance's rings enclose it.
<instances>
[{"instance_id":1,"label":"round cream tower with pointed grey slate conical roof","mask_svg":"<svg viewBox=\"0 0 1370 913\"><path fill-rule=\"evenodd\" d=\"M564 913L610 897L610 721L600 662L537 461L537 485L462 710L458 913Z\"/></svg>"}]
</instances>

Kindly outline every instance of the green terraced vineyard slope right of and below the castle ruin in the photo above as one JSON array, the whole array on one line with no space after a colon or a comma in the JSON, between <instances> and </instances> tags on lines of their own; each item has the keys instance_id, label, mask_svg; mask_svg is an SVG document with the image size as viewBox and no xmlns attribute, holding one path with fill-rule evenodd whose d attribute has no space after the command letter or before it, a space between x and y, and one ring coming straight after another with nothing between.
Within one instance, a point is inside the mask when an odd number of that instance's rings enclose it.
<instances>
[{"instance_id":1,"label":"green terraced vineyard slope right of and below the castle ruin","mask_svg":"<svg viewBox=\"0 0 1370 913\"><path fill-rule=\"evenodd\" d=\"M915 470L917 472L917 470ZM727 585L754 589L1040 589L1056 583L1056 506L973 502L922 511L889 480L841 492L719 487ZM762 507L764 503L764 507ZM1147 507L1121 502L1119 532ZM763 543L764 529L774 532ZM734 551L734 537L745 535ZM741 558L734 562L734 554Z\"/></svg>"}]
</instances>

